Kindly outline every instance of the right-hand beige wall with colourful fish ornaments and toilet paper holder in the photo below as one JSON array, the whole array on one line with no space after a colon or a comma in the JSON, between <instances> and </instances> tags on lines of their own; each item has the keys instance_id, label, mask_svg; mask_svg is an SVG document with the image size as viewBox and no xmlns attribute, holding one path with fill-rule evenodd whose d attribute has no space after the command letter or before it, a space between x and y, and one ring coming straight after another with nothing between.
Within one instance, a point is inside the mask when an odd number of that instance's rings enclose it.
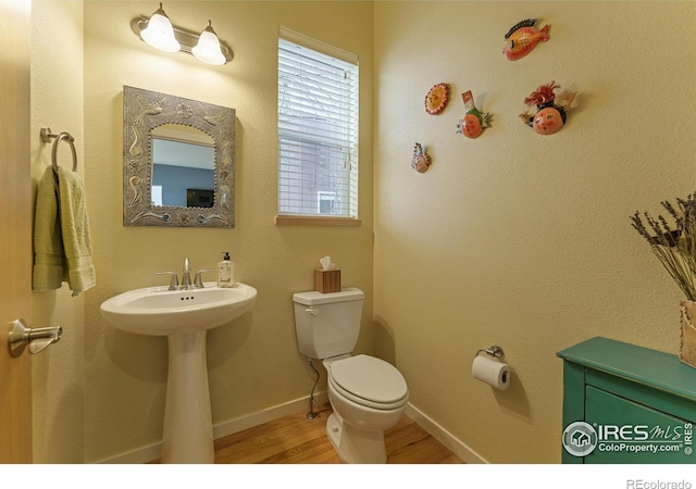
<instances>
[{"instance_id":1,"label":"right-hand beige wall with colourful fish ornaments and toilet paper holder","mask_svg":"<svg viewBox=\"0 0 696 489\"><path fill-rule=\"evenodd\" d=\"M550 40L508 61L505 34L533 16ZM489 462L560 461L557 351L599 335L678 351L681 293L629 216L694 191L695 30L693 2L375 2L375 353ZM577 98L539 136L517 115L551 80ZM452 101L431 116L440 82ZM476 140L455 134L469 89L494 114ZM495 343L504 392L471 376Z\"/></svg>"}]
</instances>

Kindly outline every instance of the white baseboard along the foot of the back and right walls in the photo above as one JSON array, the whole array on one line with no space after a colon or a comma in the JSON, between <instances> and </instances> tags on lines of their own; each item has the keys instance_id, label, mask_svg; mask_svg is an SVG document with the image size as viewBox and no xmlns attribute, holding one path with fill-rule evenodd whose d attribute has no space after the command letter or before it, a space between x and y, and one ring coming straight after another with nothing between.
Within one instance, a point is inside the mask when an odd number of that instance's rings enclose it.
<instances>
[{"instance_id":1,"label":"white baseboard along the foot of the back and right walls","mask_svg":"<svg viewBox=\"0 0 696 489\"><path fill-rule=\"evenodd\" d=\"M318 405L328 402L327 392L319 392L314 396ZM249 414L248 416L238 417L228 422L213 426L213 438L219 438L244 431L248 428L262 425L264 423L297 413L307 409L309 411L309 396L289 401L283 404L268 408L263 411ZM465 443L458 440L453 435L427 417L412 404L406 408L406 414L413 419L419 426L427 431L433 438L443 443L449 450L468 464L485 464L488 463L484 457L469 448ZM122 453L101 462L100 464L145 464L159 459L162 455L162 443L154 443L142 447L130 452Z\"/></svg>"}]
</instances>

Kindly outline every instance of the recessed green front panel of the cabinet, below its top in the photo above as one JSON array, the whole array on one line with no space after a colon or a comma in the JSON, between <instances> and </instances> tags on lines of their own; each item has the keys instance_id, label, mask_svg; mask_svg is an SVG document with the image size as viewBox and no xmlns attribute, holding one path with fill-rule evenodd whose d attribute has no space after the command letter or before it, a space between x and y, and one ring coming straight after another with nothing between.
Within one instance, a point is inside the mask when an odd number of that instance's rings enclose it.
<instances>
[{"instance_id":1,"label":"recessed green front panel of the cabinet, below its top","mask_svg":"<svg viewBox=\"0 0 696 489\"><path fill-rule=\"evenodd\" d=\"M587 464L696 463L689 421L587 386L585 422L598 436Z\"/></svg>"}]
</instances>

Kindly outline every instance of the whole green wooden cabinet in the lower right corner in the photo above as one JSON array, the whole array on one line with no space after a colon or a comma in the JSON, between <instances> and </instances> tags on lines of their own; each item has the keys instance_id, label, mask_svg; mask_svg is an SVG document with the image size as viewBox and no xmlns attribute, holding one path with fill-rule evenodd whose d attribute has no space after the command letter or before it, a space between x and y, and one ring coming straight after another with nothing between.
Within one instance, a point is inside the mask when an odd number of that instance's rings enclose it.
<instances>
[{"instance_id":1,"label":"whole green wooden cabinet in the lower right corner","mask_svg":"<svg viewBox=\"0 0 696 489\"><path fill-rule=\"evenodd\" d=\"M696 463L696 368L675 355L601 337L558 356L563 463Z\"/></svg>"}]
</instances>

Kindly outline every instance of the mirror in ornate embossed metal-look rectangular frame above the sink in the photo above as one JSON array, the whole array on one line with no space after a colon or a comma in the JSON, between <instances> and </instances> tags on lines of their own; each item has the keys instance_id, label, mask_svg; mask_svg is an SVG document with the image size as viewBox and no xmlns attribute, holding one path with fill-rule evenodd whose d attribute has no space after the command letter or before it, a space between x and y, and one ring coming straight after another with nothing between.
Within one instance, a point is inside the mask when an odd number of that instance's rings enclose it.
<instances>
[{"instance_id":1,"label":"mirror in ornate embossed metal-look rectangular frame above the sink","mask_svg":"<svg viewBox=\"0 0 696 489\"><path fill-rule=\"evenodd\" d=\"M235 110L123 92L124 226L234 227Z\"/></svg>"}]
</instances>

